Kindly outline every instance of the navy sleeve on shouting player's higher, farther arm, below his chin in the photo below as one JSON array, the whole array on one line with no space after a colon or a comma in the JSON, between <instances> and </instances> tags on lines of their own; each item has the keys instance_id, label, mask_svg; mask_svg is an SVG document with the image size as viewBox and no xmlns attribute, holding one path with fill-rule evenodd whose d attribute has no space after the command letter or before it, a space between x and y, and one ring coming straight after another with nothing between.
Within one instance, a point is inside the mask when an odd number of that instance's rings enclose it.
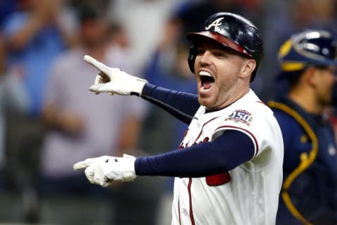
<instances>
[{"instance_id":1,"label":"navy sleeve on shouting player's higher, farther arm, below his chin","mask_svg":"<svg viewBox=\"0 0 337 225\"><path fill-rule=\"evenodd\" d=\"M186 124L190 124L200 106L195 94L164 89L149 83L145 84L141 97Z\"/></svg>"}]
</instances>

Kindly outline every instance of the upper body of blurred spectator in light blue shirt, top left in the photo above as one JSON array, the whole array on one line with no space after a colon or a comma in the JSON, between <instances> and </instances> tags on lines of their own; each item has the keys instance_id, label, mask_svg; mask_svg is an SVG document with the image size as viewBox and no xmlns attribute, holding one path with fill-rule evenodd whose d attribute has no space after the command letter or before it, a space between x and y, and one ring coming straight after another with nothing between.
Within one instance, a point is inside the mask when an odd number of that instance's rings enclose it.
<instances>
[{"instance_id":1,"label":"upper body of blurred spectator in light blue shirt, top left","mask_svg":"<svg viewBox=\"0 0 337 225\"><path fill-rule=\"evenodd\" d=\"M29 96L29 115L39 117L44 84L55 56L74 44L74 18L65 1L21 0L8 16L4 35L12 69L21 72Z\"/></svg>"}]
</instances>

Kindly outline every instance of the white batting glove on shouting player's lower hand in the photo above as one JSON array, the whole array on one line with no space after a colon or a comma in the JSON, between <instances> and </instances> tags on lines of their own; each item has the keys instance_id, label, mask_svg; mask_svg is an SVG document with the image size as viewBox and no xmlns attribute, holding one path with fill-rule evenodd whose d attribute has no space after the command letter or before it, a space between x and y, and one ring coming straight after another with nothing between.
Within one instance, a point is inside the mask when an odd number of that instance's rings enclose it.
<instances>
[{"instance_id":1,"label":"white batting glove on shouting player's lower hand","mask_svg":"<svg viewBox=\"0 0 337 225\"><path fill-rule=\"evenodd\" d=\"M123 155L123 158L101 156L88 158L74 164L74 169L85 169L86 178L91 184L106 187L112 181L132 181L136 179L136 158L132 155Z\"/></svg>"}]
</instances>

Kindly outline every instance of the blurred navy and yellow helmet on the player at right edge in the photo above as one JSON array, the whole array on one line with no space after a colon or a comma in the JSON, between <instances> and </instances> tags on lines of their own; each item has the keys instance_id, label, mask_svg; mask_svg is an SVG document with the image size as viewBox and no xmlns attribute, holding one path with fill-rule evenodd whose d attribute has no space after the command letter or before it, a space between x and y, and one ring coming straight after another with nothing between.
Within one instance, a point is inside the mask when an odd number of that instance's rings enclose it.
<instances>
[{"instance_id":1,"label":"blurred navy and yellow helmet on the player at right edge","mask_svg":"<svg viewBox=\"0 0 337 225\"><path fill-rule=\"evenodd\" d=\"M337 65L336 41L330 32L306 30L293 34L279 49L278 79L291 77L310 65Z\"/></svg>"}]
</instances>

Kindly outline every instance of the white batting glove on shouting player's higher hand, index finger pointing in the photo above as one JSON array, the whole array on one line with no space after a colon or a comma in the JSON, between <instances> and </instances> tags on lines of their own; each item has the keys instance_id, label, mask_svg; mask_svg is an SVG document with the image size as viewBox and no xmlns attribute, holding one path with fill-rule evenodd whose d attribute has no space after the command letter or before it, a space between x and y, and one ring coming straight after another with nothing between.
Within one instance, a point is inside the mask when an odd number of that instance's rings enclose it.
<instances>
[{"instance_id":1,"label":"white batting glove on shouting player's higher hand, index finger pointing","mask_svg":"<svg viewBox=\"0 0 337 225\"><path fill-rule=\"evenodd\" d=\"M84 60L100 70L95 78L95 83L89 88L90 91L100 94L107 92L111 95L119 94L121 96L142 94L146 79L140 79L128 75L118 68L109 68L103 63L98 62L91 56L84 56Z\"/></svg>"}]
</instances>

